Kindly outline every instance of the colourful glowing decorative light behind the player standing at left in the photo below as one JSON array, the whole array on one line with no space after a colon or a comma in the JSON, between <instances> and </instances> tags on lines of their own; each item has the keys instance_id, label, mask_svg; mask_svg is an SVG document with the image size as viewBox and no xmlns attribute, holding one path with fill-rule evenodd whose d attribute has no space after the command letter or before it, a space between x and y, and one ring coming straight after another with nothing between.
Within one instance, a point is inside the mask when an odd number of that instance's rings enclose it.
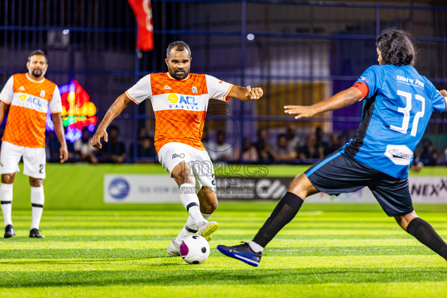
<instances>
[{"instance_id":1,"label":"colourful glowing decorative light behind the player standing at left","mask_svg":"<svg viewBox=\"0 0 447 298\"><path fill-rule=\"evenodd\" d=\"M71 143L82 137L82 129L87 126L93 132L97 118L96 106L89 101L89 94L81 87L76 80L71 80L70 84L59 87L62 99L62 124L67 127L65 139ZM54 123L51 121L51 112L46 114L46 130L54 131Z\"/></svg>"}]
</instances>

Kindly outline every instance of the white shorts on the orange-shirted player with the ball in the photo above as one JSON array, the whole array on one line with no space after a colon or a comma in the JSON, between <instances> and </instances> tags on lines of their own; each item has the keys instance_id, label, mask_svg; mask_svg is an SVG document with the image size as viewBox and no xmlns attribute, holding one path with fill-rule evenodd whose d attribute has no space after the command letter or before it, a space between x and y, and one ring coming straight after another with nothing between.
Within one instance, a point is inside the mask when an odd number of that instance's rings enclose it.
<instances>
[{"instance_id":1,"label":"white shorts on the orange-shirted player with the ball","mask_svg":"<svg viewBox=\"0 0 447 298\"><path fill-rule=\"evenodd\" d=\"M204 185L212 191L216 190L213 163L211 163L207 151L198 150L186 144L172 142L161 147L158 152L158 159L163 168L169 171L169 173L172 173L177 164L186 162L193 169L196 189L200 189Z\"/></svg>"}]
</instances>

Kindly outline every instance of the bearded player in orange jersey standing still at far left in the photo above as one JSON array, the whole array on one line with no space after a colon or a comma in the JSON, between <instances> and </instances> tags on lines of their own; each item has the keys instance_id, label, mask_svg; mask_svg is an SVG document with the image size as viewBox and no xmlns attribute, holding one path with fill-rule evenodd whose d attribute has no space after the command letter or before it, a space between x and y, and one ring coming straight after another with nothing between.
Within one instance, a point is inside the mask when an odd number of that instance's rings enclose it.
<instances>
[{"instance_id":1,"label":"bearded player in orange jersey standing still at far left","mask_svg":"<svg viewBox=\"0 0 447 298\"><path fill-rule=\"evenodd\" d=\"M59 88L44 78L48 68L42 50L33 51L26 63L28 73L17 73L9 78L0 92L0 123L9 107L8 119L0 150L0 201L3 213L4 237L16 235L11 220L13 182L23 156L23 173L30 176L32 222L30 237L44 238L39 233L45 178L45 125L48 108L52 113L56 135L61 143L60 162L68 158L67 143L62 125L62 103Z\"/></svg>"}]
</instances>

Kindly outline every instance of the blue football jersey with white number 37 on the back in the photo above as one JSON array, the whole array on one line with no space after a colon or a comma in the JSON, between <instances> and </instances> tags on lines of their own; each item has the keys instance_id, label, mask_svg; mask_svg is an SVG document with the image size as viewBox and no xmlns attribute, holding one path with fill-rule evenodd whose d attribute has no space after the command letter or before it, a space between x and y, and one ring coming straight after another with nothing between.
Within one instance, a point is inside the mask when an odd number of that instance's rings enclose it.
<instances>
[{"instance_id":1,"label":"blue football jersey with white number 37 on the back","mask_svg":"<svg viewBox=\"0 0 447 298\"><path fill-rule=\"evenodd\" d=\"M355 139L343 150L359 162L395 178L408 177L413 151L431 113L446 101L412 66L374 65L358 79L369 88Z\"/></svg>"}]
</instances>

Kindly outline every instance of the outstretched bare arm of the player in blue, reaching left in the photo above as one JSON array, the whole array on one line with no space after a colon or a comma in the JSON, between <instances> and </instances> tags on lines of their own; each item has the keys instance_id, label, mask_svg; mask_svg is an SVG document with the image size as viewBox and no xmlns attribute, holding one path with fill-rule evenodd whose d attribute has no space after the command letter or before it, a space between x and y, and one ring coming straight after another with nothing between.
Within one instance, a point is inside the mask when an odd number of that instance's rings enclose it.
<instances>
[{"instance_id":1,"label":"outstretched bare arm of the player in blue, reaching left","mask_svg":"<svg viewBox=\"0 0 447 298\"><path fill-rule=\"evenodd\" d=\"M308 118L318 113L333 111L353 105L355 102L361 100L362 97L363 95L360 90L351 87L343 90L342 92L338 92L333 97L330 97L325 101L320 101L313 105L285 105L284 113L296 114L295 119Z\"/></svg>"}]
</instances>

